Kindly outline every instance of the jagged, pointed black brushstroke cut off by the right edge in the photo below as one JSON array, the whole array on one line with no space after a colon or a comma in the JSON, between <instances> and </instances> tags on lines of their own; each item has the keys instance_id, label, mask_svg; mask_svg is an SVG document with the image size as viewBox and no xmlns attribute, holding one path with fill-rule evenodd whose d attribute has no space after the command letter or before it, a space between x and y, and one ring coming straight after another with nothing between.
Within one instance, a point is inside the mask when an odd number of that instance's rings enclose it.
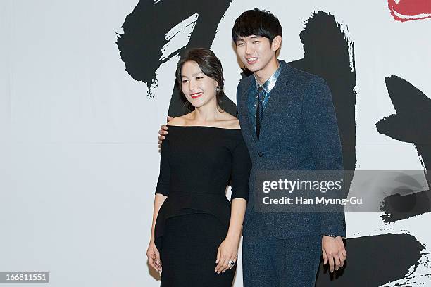
<instances>
[{"instance_id":1,"label":"jagged, pointed black brushstroke cut off by the right edge","mask_svg":"<svg viewBox=\"0 0 431 287\"><path fill-rule=\"evenodd\" d=\"M428 186L431 187L431 173L427 172L427 168L431 168L431 99L401 77L386 77L385 82L396 114L379 120L377 131L415 145ZM382 219L384 222L394 222L430 212L430 198L431 189L407 195L394 191L383 201L385 215Z\"/></svg>"}]
</instances>

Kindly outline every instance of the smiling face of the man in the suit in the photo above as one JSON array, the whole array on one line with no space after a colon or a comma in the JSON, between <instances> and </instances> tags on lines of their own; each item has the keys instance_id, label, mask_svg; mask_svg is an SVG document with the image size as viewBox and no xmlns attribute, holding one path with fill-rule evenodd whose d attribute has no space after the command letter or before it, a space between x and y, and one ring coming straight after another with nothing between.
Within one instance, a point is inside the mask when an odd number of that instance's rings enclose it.
<instances>
[{"instance_id":1,"label":"smiling face of the man in the suit","mask_svg":"<svg viewBox=\"0 0 431 287\"><path fill-rule=\"evenodd\" d=\"M273 45L266 37L251 35L237 39L237 56L251 72L259 72L266 68L275 57Z\"/></svg>"}]
</instances>

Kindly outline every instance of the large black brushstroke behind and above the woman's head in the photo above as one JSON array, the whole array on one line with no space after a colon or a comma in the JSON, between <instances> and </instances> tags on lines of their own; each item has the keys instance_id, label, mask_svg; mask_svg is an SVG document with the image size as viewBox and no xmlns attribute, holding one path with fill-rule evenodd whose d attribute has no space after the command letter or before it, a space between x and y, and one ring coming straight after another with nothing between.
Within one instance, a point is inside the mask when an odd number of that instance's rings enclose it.
<instances>
[{"instance_id":1,"label":"large black brushstroke behind and above the woman's head","mask_svg":"<svg viewBox=\"0 0 431 287\"><path fill-rule=\"evenodd\" d=\"M150 87L156 80L156 70L167 60L194 47L210 48L215 32L225 11L232 0L199 1L199 0L163 0L154 3L152 0L141 0L127 15L123 24L123 34L117 39L120 56L125 63L127 73L135 80L146 82L151 97ZM165 34L175 25L198 13L196 25L184 47L178 47L170 56L159 60L161 49L167 43ZM175 71L172 71L174 74ZM164 84L164 83L158 83ZM235 104L226 96L222 108L236 115ZM177 87L174 88L169 107L169 115L184 115L187 112Z\"/></svg>"}]
</instances>

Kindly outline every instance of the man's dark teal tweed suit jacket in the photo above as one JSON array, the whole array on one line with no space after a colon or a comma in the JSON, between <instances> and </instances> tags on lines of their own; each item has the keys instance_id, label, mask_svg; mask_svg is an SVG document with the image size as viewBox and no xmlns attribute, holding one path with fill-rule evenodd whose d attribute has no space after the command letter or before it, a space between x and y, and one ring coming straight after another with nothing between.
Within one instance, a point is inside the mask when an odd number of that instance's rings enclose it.
<instances>
[{"instance_id":1,"label":"man's dark teal tweed suit jacket","mask_svg":"<svg viewBox=\"0 0 431 287\"><path fill-rule=\"evenodd\" d=\"M252 162L249 203L244 219L244 236L254 209L254 181L259 170L342 170L342 147L330 89L325 80L296 70L280 60L282 70L263 112L260 140L247 113L247 96L254 88L254 75L241 80L237 88L237 110L242 134ZM253 86L252 86L253 85ZM276 238L306 234L346 236L344 212L263 213Z\"/></svg>"}]
</instances>

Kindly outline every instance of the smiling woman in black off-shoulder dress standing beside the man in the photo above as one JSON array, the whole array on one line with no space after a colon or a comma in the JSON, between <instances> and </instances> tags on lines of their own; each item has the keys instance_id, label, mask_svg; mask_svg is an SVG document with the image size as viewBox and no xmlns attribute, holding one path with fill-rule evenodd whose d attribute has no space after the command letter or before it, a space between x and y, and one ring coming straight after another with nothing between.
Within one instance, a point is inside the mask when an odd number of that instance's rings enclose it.
<instances>
[{"instance_id":1,"label":"smiling woman in black off-shoulder dress standing beside the man","mask_svg":"<svg viewBox=\"0 0 431 287\"><path fill-rule=\"evenodd\" d=\"M208 49L192 49L176 71L185 103L161 145L149 264L161 286L232 286L251 162L239 121L220 109L223 70ZM231 204L225 196L232 187Z\"/></svg>"}]
</instances>

